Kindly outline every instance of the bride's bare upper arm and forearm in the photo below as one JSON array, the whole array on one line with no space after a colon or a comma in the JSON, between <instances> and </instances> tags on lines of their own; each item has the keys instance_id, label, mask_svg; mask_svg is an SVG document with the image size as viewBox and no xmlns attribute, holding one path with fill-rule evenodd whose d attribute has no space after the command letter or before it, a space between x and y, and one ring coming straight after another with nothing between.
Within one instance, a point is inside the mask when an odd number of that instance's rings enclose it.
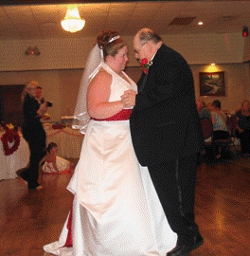
<instances>
[{"instance_id":1,"label":"bride's bare upper arm and forearm","mask_svg":"<svg viewBox=\"0 0 250 256\"><path fill-rule=\"evenodd\" d=\"M94 119L107 119L120 112L124 105L122 101L109 102L112 76L100 70L89 84L87 92L88 114Z\"/></svg>"}]
</instances>

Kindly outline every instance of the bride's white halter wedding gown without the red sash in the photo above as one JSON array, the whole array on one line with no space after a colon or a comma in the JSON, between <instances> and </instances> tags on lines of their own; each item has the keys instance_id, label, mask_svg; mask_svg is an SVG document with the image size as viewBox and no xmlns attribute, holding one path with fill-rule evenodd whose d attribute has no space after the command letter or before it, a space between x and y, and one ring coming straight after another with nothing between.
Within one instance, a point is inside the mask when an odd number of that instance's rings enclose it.
<instances>
[{"instance_id":1,"label":"bride's white halter wedding gown without the red sash","mask_svg":"<svg viewBox=\"0 0 250 256\"><path fill-rule=\"evenodd\" d=\"M106 64L112 74L109 101L119 101L125 90L136 90ZM170 229L148 169L138 164L129 120L91 119L80 160L67 187L74 193L73 247L63 247L67 220L60 239L46 252L62 256L166 255L177 235Z\"/></svg>"}]
</instances>

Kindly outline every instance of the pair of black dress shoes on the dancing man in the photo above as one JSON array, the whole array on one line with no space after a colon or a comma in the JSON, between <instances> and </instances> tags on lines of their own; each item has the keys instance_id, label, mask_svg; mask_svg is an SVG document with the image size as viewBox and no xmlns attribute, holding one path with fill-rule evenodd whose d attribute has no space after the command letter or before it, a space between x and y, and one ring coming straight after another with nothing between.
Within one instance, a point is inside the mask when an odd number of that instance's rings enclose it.
<instances>
[{"instance_id":1,"label":"pair of black dress shoes on the dancing man","mask_svg":"<svg viewBox=\"0 0 250 256\"><path fill-rule=\"evenodd\" d=\"M166 256L187 256L192 250L201 247L204 243L203 237L199 233L193 239L191 244L178 245L177 243L176 247L171 249Z\"/></svg>"}]
</instances>

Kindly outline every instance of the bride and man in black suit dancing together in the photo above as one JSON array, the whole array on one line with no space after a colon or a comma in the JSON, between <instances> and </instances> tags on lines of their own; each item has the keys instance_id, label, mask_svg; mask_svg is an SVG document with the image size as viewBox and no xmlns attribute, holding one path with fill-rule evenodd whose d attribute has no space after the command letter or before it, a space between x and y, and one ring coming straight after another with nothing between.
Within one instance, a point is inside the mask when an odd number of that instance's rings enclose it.
<instances>
[{"instance_id":1,"label":"bride and man in black suit dancing together","mask_svg":"<svg viewBox=\"0 0 250 256\"><path fill-rule=\"evenodd\" d=\"M149 28L135 35L134 51L145 72L138 92L115 30L103 30L89 55L75 112L75 127L87 129L67 187L73 207L46 252L184 256L203 244L194 218L203 137L191 71Z\"/></svg>"}]
</instances>

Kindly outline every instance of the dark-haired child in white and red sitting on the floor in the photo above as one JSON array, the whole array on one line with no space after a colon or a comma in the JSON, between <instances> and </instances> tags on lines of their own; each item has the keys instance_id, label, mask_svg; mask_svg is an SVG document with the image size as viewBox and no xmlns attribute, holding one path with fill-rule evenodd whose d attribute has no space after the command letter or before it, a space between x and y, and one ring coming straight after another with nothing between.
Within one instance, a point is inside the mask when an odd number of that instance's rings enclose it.
<instances>
[{"instance_id":1,"label":"dark-haired child in white and red sitting on the floor","mask_svg":"<svg viewBox=\"0 0 250 256\"><path fill-rule=\"evenodd\" d=\"M46 148L47 154L40 161L43 174L71 174L73 164L57 155L58 147L55 142L50 142Z\"/></svg>"}]
</instances>

